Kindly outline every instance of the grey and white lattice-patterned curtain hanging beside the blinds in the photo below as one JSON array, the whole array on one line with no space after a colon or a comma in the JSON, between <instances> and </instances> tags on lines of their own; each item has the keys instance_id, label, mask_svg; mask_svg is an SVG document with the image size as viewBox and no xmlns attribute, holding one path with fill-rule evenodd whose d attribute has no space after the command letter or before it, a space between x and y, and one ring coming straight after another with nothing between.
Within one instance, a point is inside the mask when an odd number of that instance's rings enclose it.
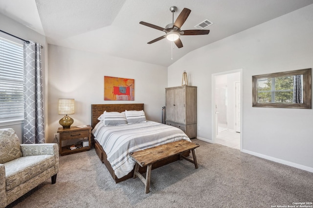
<instances>
[{"instance_id":1,"label":"grey and white lattice-patterned curtain hanging beside the blinds","mask_svg":"<svg viewBox=\"0 0 313 208\"><path fill-rule=\"evenodd\" d=\"M40 44L24 42L24 144L45 143Z\"/></svg>"}]
</instances>

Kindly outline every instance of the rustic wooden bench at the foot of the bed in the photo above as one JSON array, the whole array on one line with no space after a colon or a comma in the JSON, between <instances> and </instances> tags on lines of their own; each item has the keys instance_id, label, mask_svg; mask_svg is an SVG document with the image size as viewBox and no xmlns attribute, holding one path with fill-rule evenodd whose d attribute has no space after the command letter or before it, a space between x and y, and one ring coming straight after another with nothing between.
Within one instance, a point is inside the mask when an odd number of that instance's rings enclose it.
<instances>
[{"instance_id":1,"label":"rustic wooden bench at the foot of the bed","mask_svg":"<svg viewBox=\"0 0 313 208\"><path fill-rule=\"evenodd\" d=\"M195 144L186 140L179 140L176 142L163 144L160 146L156 146L156 147L141 150L141 151L130 152L130 156L136 162L135 170L134 170L134 178L138 176L138 178L146 186L145 193L149 193L150 192L150 175L151 175L152 165L157 161L160 161L162 159L165 159L167 157L177 155L177 154L180 155L180 160L185 159L195 164L195 168L198 169L197 158L195 154L195 149L197 147L199 147L198 144ZM193 160L182 155L182 153L186 151L192 152ZM144 178L144 176L142 176L139 173L138 171L139 165L141 167L147 166L146 178Z\"/></svg>"}]
</instances>

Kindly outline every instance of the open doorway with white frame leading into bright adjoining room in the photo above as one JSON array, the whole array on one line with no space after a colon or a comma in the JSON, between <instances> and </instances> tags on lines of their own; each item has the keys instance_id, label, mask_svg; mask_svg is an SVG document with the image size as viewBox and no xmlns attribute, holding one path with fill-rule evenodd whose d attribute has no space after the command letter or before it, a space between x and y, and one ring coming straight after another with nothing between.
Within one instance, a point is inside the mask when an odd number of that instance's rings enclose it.
<instances>
[{"instance_id":1,"label":"open doorway with white frame leading into bright adjoining room","mask_svg":"<svg viewBox=\"0 0 313 208\"><path fill-rule=\"evenodd\" d=\"M242 150L242 69L212 75L213 143Z\"/></svg>"}]
</instances>

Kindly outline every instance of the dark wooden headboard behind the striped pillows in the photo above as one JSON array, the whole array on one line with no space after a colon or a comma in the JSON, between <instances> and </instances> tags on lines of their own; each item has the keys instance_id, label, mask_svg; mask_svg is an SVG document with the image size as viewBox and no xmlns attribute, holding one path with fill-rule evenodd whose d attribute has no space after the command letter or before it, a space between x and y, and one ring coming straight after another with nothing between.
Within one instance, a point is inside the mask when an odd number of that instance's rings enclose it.
<instances>
[{"instance_id":1,"label":"dark wooden headboard behind the striped pillows","mask_svg":"<svg viewBox=\"0 0 313 208\"><path fill-rule=\"evenodd\" d=\"M99 122L98 117L104 112L123 112L128 111L141 111L143 103L134 104L92 104L91 105L91 127L94 128Z\"/></svg>"}]
</instances>

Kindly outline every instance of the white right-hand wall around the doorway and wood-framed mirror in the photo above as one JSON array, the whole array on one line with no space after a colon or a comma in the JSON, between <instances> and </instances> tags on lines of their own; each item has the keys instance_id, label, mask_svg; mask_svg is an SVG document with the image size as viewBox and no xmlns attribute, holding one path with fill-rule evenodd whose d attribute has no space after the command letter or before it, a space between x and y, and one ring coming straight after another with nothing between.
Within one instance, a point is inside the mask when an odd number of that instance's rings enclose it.
<instances>
[{"instance_id":1,"label":"white right-hand wall around the doorway and wood-framed mirror","mask_svg":"<svg viewBox=\"0 0 313 208\"><path fill-rule=\"evenodd\" d=\"M243 151L313 171L313 110L252 108L253 75L313 68L312 37L309 5L187 54L168 68L168 87L186 70L198 86L198 136L211 140L211 75L242 68Z\"/></svg>"}]
</instances>

